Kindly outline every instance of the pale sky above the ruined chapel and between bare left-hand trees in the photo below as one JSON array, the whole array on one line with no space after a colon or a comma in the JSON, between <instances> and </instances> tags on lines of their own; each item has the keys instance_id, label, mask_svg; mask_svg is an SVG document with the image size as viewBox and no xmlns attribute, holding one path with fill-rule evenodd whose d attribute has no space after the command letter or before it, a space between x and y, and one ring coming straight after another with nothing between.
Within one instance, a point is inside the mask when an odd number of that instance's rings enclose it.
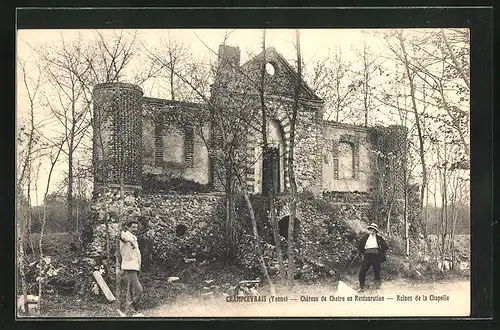
<instances>
[{"instance_id":1,"label":"pale sky above the ruined chapel and between bare left-hand trees","mask_svg":"<svg viewBox=\"0 0 500 330\"><path fill-rule=\"evenodd\" d=\"M111 35L112 30L105 31L105 35ZM223 43L227 36L227 45L238 46L241 51L241 63L248 60L250 55L256 55L262 50L262 30L259 29L169 29L169 30L135 30L138 32L139 40L145 47L154 47L159 40L168 39L169 37L181 41L190 52L199 60L207 61L215 59L214 52L218 46ZM383 30L366 30L366 29L301 29L301 55L304 64L307 68L315 60L324 58L329 52L335 51L337 47L342 49L343 58L346 60L349 57L358 56L353 48L360 48L360 45L366 45L378 52L383 47L381 38L376 37L377 31ZM420 30L421 31L421 30ZM85 40L92 40L95 30L18 30L17 31L17 57L28 58L32 53L32 48L38 46L58 44L61 37L65 40L76 38L81 34ZM132 30L123 30L126 33L132 33ZM280 52L290 63L294 63L296 59L295 49L295 30L291 29L267 29L266 44L273 46ZM411 31L409 33L412 33ZM142 63L131 63L131 67L140 67ZM19 74L18 74L19 82ZM22 88L18 86L18 97L16 105L16 113L18 120L26 116L26 95L23 94ZM147 93L147 96L159 97L154 95L154 90ZM46 116L47 113L38 113L40 117ZM56 134L55 132L52 132ZM50 134L50 132L48 133ZM54 172L53 186L57 186L63 178L63 166L61 162ZM43 187L46 182L48 169L43 166L40 173L39 186ZM40 188L42 190L42 188ZM40 195L40 194L39 194Z\"/></svg>"}]
</instances>

